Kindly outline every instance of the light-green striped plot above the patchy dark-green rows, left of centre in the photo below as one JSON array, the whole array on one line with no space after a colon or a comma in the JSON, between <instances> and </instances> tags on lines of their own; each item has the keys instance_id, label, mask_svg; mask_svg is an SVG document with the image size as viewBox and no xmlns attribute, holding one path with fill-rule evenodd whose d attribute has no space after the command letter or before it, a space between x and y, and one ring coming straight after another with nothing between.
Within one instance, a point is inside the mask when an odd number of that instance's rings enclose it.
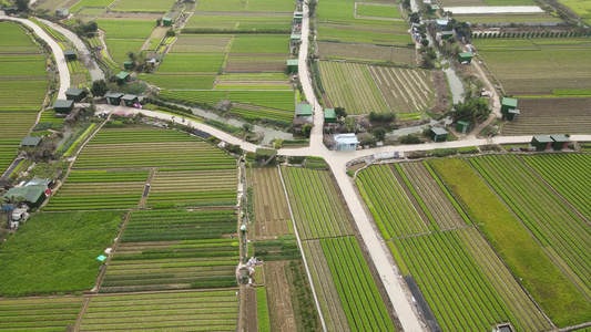
<instances>
[{"instance_id":1,"label":"light-green striped plot above the patchy dark-green rows, left of centre","mask_svg":"<svg viewBox=\"0 0 591 332\"><path fill-rule=\"evenodd\" d=\"M147 205L235 206L236 188L235 166L195 170L163 168L154 175Z\"/></svg>"}]
</instances>

